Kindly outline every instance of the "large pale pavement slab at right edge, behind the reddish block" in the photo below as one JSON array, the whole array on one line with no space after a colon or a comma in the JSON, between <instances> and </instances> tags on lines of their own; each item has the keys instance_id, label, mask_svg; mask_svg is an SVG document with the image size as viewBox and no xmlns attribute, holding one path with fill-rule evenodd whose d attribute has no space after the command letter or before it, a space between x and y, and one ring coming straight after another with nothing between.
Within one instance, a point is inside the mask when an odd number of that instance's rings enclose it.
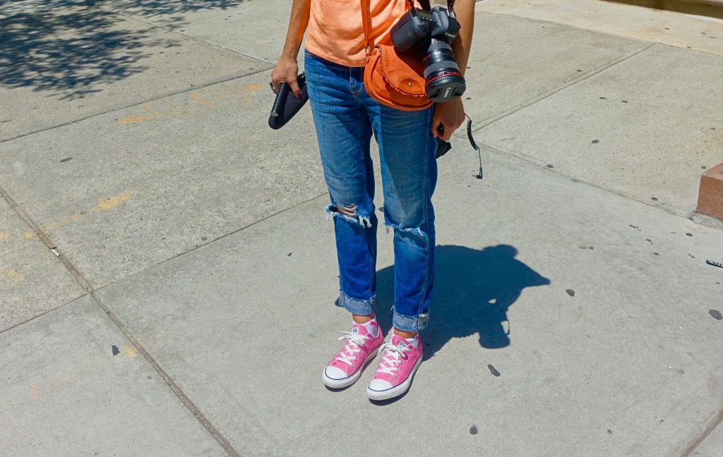
<instances>
[{"instance_id":1,"label":"large pale pavement slab at right edge, behind the reddish block","mask_svg":"<svg viewBox=\"0 0 723 457\"><path fill-rule=\"evenodd\" d=\"M480 141L688 216L723 157L723 58L664 45L479 132Z\"/></svg>"}]
</instances>

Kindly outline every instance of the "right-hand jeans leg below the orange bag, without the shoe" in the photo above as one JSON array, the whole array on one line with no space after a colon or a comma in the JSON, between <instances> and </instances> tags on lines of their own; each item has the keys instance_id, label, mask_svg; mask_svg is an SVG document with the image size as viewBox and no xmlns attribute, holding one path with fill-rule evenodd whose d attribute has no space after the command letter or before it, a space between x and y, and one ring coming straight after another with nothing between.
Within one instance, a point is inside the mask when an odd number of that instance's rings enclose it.
<instances>
[{"instance_id":1,"label":"right-hand jeans leg below the orange bag, without the shoe","mask_svg":"<svg viewBox=\"0 0 723 457\"><path fill-rule=\"evenodd\" d=\"M434 282L437 144L432 109L404 112L379 106L372 126L380 149L385 225L394 230L394 317L397 334L427 326Z\"/></svg>"}]
</instances>

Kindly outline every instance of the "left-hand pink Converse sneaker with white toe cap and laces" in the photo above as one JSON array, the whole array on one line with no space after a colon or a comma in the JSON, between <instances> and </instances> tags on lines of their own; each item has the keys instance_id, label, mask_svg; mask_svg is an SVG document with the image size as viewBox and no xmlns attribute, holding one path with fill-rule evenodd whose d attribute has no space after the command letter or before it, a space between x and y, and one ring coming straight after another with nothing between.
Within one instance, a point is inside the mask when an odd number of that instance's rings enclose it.
<instances>
[{"instance_id":1,"label":"left-hand pink Converse sneaker with white toe cap and laces","mask_svg":"<svg viewBox=\"0 0 723 457\"><path fill-rule=\"evenodd\" d=\"M377 356L377 349L384 342L384 335L376 319L366 324L354 323L351 331L341 333L346 335L341 336L339 341L348 341L322 373L324 383L330 388L343 388L356 383L361 371Z\"/></svg>"}]
</instances>

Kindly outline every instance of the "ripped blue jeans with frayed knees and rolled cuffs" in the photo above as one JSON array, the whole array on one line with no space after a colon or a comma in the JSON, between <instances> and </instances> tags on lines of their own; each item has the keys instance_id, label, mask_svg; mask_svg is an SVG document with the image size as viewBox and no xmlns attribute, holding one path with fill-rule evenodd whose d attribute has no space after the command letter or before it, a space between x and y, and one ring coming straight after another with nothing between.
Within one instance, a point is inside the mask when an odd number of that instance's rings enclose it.
<instances>
[{"instance_id":1,"label":"ripped blue jeans with frayed knees and rolled cuffs","mask_svg":"<svg viewBox=\"0 0 723 457\"><path fill-rule=\"evenodd\" d=\"M369 144L379 144L384 219L394 229L394 317L401 331L427 326L434 281L437 143L432 108L388 108L364 90L364 69L305 52L304 69L331 204L339 264L339 305L374 310L377 215Z\"/></svg>"}]
</instances>

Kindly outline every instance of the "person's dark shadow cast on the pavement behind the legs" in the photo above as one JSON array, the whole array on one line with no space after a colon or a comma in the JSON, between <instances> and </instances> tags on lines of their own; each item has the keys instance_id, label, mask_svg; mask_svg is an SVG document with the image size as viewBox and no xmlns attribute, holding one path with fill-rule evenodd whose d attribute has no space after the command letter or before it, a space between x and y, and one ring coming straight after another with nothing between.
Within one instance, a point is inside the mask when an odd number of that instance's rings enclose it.
<instances>
[{"instance_id":1,"label":"person's dark shadow cast on the pavement behind the legs","mask_svg":"<svg viewBox=\"0 0 723 457\"><path fill-rule=\"evenodd\" d=\"M424 360L434 356L450 339L473 334L479 334L480 346L488 349L510 345L507 310L525 287L550 283L518 261L516 255L517 250L510 245L491 246L482 251L437 246L429 326L422 334ZM393 266L377 273L377 298L377 320L381 328L391 328Z\"/></svg>"}]
</instances>

